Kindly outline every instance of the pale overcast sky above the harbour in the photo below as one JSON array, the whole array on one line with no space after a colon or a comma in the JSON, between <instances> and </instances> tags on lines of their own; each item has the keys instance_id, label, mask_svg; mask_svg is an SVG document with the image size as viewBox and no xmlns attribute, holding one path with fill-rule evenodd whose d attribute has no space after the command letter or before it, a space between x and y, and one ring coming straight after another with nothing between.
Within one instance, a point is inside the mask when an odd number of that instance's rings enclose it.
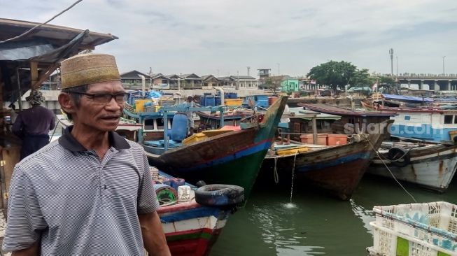
<instances>
[{"instance_id":1,"label":"pale overcast sky above the harbour","mask_svg":"<svg viewBox=\"0 0 457 256\"><path fill-rule=\"evenodd\" d=\"M0 17L44 22L73 2L0 0ZM50 24L118 36L95 52L121 72L304 76L344 60L390 73L393 48L394 74L442 73L443 59L457 73L456 13L456 0L84 0Z\"/></svg>"}]
</instances>

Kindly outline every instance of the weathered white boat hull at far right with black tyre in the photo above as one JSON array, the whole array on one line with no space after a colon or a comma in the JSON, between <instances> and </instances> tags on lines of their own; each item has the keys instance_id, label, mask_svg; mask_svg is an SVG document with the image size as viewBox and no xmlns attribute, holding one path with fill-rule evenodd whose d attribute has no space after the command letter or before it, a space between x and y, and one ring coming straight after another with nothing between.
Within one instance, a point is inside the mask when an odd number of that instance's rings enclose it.
<instances>
[{"instance_id":1,"label":"weathered white boat hull at far right with black tyre","mask_svg":"<svg viewBox=\"0 0 457 256\"><path fill-rule=\"evenodd\" d=\"M449 187L457 169L457 145L386 142L369 173L404 180L437 192ZM388 171L388 169L391 170Z\"/></svg>"}]
</instances>

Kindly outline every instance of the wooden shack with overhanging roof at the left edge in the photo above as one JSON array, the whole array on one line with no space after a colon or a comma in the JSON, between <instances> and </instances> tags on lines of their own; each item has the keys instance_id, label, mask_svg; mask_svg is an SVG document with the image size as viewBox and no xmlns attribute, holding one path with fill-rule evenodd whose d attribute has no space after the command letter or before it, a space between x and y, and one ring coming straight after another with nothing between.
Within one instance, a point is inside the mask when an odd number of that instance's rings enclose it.
<instances>
[{"instance_id":1,"label":"wooden shack with overhanging roof at the left edge","mask_svg":"<svg viewBox=\"0 0 457 256\"><path fill-rule=\"evenodd\" d=\"M0 189L1 208L6 208L8 187L14 166L20 159L20 138L9 129L10 110L5 102L15 102L24 92L41 87L59 62L83 50L118 37L89 30L51 24L0 19ZM19 109L22 110L20 100Z\"/></svg>"}]
</instances>

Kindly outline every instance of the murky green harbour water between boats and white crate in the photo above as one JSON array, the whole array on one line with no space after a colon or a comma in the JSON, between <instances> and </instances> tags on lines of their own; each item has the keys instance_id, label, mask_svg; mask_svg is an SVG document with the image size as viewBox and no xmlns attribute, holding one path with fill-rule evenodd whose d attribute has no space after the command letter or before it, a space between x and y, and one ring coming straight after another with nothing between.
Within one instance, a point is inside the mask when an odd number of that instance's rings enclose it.
<instances>
[{"instance_id":1,"label":"murky green harbour water between boats and white crate","mask_svg":"<svg viewBox=\"0 0 457 256\"><path fill-rule=\"evenodd\" d=\"M418 202L457 204L457 182L437 194L406 185ZM230 255L367 255L372 246L369 222L372 208L409 204L409 197L391 179L365 176L351 201L339 201L319 192L256 184L248 204L231 216L210 256Z\"/></svg>"}]
</instances>

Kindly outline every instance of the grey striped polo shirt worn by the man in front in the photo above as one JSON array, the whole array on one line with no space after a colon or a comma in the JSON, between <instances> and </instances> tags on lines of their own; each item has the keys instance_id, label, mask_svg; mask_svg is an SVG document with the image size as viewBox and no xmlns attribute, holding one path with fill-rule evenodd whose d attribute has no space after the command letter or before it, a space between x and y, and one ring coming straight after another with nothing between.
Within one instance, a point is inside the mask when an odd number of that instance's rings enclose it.
<instances>
[{"instance_id":1,"label":"grey striped polo shirt worn by the man in front","mask_svg":"<svg viewBox=\"0 0 457 256\"><path fill-rule=\"evenodd\" d=\"M115 132L100 159L71 127L15 166L3 250L42 255L144 255L138 213L158 208L143 148Z\"/></svg>"}]
</instances>

